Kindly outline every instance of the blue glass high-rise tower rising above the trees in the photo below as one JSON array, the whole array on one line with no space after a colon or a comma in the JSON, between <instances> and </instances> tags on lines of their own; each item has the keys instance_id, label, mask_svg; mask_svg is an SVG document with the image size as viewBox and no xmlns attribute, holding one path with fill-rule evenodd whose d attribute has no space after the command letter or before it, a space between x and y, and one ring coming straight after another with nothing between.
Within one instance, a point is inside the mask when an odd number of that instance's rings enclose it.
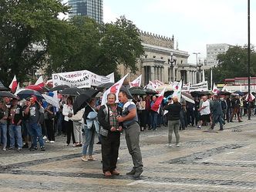
<instances>
[{"instance_id":1,"label":"blue glass high-rise tower rising above the trees","mask_svg":"<svg viewBox=\"0 0 256 192\"><path fill-rule=\"evenodd\" d=\"M69 0L69 17L85 15L103 23L103 0Z\"/></svg>"}]
</instances>

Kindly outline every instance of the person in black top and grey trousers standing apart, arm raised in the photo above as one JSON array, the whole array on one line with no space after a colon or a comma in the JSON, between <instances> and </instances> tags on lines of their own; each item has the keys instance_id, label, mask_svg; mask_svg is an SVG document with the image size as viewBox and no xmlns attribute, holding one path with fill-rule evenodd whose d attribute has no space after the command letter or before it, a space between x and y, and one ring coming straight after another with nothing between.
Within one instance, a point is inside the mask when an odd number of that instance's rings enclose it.
<instances>
[{"instance_id":1,"label":"person in black top and grey trousers standing apart, arm raised","mask_svg":"<svg viewBox=\"0 0 256 192\"><path fill-rule=\"evenodd\" d=\"M179 128L180 128L181 104L179 103L177 96L173 97L173 104L168 104L167 106L164 106L163 109L168 111L167 119L168 119L168 127L169 127L169 134L168 134L169 143L166 145L166 147L171 147L173 130L176 137L176 146L179 147L180 146Z\"/></svg>"}]
</instances>

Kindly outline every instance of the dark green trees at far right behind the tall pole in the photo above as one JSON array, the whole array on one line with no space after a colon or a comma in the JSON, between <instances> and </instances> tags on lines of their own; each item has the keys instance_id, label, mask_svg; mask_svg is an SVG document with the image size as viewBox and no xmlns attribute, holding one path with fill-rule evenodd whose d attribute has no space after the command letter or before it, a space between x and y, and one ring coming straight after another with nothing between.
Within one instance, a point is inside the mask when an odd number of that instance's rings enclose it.
<instances>
[{"instance_id":1,"label":"dark green trees at far right behind the tall pole","mask_svg":"<svg viewBox=\"0 0 256 192\"><path fill-rule=\"evenodd\" d=\"M217 56L219 64L213 68L213 81L224 83L224 79L248 76L248 47L233 46L225 54ZM256 76L256 53L251 48L251 76Z\"/></svg>"}]
</instances>

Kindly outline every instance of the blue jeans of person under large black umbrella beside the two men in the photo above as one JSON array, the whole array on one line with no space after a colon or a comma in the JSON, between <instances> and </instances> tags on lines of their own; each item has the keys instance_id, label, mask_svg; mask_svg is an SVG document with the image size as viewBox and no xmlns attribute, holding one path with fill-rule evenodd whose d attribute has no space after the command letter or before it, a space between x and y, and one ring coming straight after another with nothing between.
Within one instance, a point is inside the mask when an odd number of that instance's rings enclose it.
<instances>
[{"instance_id":1,"label":"blue jeans of person under large black umbrella beside the two men","mask_svg":"<svg viewBox=\"0 0 256 192\"><path fill-rule=\"evenodd\" d=\"M89 147L88 153L89 156L93 155L93 143L94 143L94 137L95 137L95 128L92 127L91 129L87 129L85 127L86 131L86 142L83 143L83 152L82 155L87 155L87 148Z\"/></svg>"}]
</instances>

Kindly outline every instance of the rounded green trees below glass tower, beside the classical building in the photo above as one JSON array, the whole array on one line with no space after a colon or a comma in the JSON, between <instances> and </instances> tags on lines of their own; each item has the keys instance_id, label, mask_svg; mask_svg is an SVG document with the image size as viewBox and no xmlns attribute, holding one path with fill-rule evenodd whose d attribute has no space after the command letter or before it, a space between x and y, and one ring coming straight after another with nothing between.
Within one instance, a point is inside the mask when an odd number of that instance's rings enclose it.
<instances>
[{"instance_id":1,"label":"rounded green trees below glass tower, beside the classical building","mask_svg":"<svg viewBox=\"0 0 256 192\"><path fill-rule=\"evenodd\" d=\"M62 34L65 38L59 36L49 42L49 73L88 69L107 75L116 72L119 64L136 71L143 45L133 22L122 16L114 23L99 24L79 16L69 25L69 31Z\"/></svg>"}]
</instances>

